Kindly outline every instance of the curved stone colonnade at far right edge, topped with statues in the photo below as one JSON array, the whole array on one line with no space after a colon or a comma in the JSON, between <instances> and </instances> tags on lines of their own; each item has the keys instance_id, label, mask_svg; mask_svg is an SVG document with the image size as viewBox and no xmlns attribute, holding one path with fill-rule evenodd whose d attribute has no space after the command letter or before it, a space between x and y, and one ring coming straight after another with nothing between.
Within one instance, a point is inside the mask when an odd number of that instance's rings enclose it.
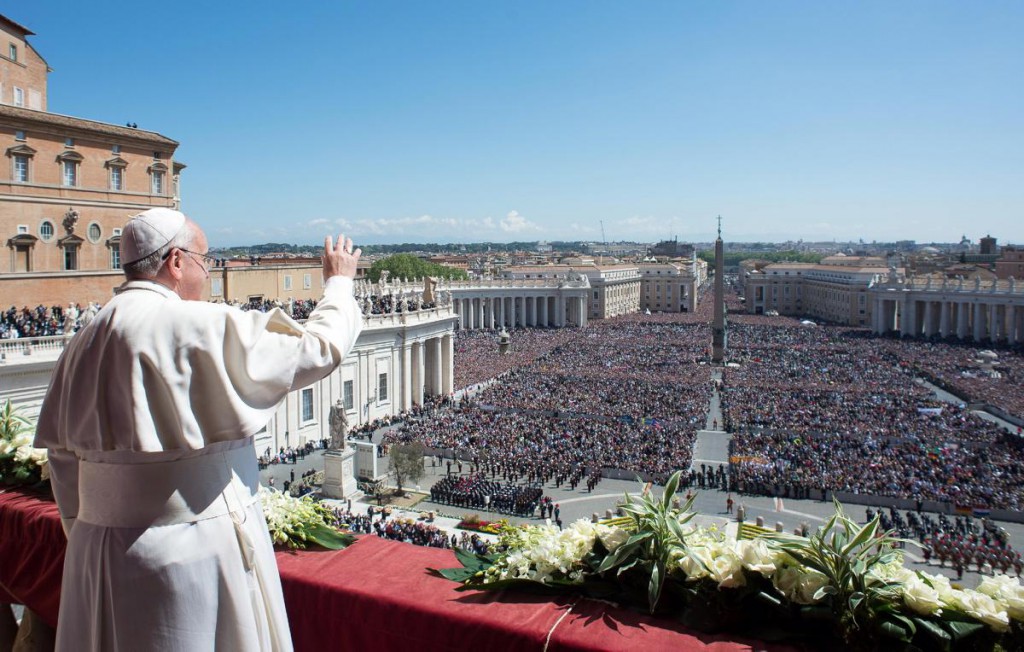
<instances>
[{"instance_id":1,"label":"curved stone colonnade at far right edge, topped with statues","mask_svg":"<svg viewBox=\"0 0 1024 652\"><path fill-rule=\"evenodd\" d=\"M975 342L1024 342L1024 294L983 292L879 293L872 330L909 337ZM1001 296L1000 296L1001 295Z\"/></svg>"}]
</instances>

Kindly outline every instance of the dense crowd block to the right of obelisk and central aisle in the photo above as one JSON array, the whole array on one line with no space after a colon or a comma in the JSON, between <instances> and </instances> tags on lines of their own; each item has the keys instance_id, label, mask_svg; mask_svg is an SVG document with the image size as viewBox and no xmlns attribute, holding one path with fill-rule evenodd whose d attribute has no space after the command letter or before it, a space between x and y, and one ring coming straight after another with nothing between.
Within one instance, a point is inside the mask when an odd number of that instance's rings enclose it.
<instances>
[{"instance_id":1,"label":"dense crowd block to the right of obelisk and central aisle","mask_svg":"<svg viewBox=\"0 0 1024 652\"><path fill-rule=\"evenodd\" d=\"M940 403L893 344L862 332L734 324L722 405L734 487L1024 507L1014 432Z\"/></svg>"}]
</instances>

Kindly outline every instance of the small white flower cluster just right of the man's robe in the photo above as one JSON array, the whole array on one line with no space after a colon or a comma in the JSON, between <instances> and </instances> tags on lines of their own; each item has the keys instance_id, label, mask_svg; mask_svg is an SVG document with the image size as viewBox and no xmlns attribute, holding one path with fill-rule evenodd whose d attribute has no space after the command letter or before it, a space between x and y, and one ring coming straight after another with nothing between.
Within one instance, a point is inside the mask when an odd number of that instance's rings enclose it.
<instances>
[{"instance_id":1,"label":"small white flower cluster just right of the man's robe","mask_svg":"<svg viewBox=\"0 0 1024 652\"><path fill-rule=\"evenodd\" d=\"M296 498L261 486L259 499L274 546L300 549L315 544L341 550L355 540L335 527L336 518L330 508L309 496Z\"/></svg>"}]
</instances>

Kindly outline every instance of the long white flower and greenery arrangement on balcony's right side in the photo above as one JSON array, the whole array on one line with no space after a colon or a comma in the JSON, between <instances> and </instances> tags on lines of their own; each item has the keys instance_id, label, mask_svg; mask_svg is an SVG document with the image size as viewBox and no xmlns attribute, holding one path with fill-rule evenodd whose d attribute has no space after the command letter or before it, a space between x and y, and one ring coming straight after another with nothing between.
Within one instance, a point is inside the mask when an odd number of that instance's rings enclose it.
<instances>
[{"instance_id":1,"label":"long white flower and greenery arrangement on balcony's right side","mask_svg":"<svg viewBox=\"0 0 1024 652\"><path fill-rule=\"evenodd\" d=\"M706 632L815 649L1024 649L1024 588L1005 575L976 591L903 565L878 518L836 513L813 535L731 539L694 527L692 499L626 496L630 522L504 526L493 555L457 551L461 568L434 571L461 590L570 592L644 607Z\"/></svg>"}]
</instances>

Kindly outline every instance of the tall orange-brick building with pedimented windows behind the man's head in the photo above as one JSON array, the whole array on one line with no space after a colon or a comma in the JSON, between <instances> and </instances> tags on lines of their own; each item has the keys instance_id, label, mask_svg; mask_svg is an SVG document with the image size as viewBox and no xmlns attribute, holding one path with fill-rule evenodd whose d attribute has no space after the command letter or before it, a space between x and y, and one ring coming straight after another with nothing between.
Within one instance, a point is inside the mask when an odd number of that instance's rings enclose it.
<instances>
[{"instance_id":1,"label":"tall orange-brick building with pedimented windows behind the man's head","mask_svg":"<svg viewBox=\"0 0 1024 652\"><path fill-rule=\"evenodd\" d=\"M46 61L0 16L0 292L31 274L119 269L127 215L177 207L178 143L159 133L48 113ZM6 56L4 56L6 54ZM20 294L20 293L17 293ZM0 301L0 303L5 303Z\"/></svg>"}]
</instances>

